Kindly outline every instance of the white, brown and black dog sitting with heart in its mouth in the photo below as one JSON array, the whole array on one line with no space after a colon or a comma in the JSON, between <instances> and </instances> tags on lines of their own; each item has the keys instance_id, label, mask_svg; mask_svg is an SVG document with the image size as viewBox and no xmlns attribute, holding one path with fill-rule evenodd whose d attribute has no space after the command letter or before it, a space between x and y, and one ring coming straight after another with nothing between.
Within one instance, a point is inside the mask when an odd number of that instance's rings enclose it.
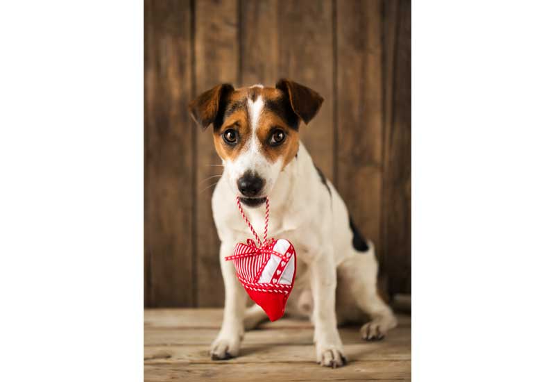
<instances>
[{"instance_id":1,"label":"white, brown and black dog sitting with heart in its mouth","mask_svg":"<svg viewBox=\"0 0 555 382\"><path fill-rule=\"evenodd\" d=\"M299 140L301 122L309 124L322 103L316 91L288 79L280 79L275 88L235 89L224 83L189 103L196 124L204 130L212 124L223 163L212 195L225 285L223 323L210 350L214 360L238 356L244 331L266 318L256 304L246 308L247 294L234 265L224 259L251 235L237 210L237 197L254 227L264 226L269 198L271 235L287 238L296 248L297 276L286 313L311 318L316 362L345 365L337 329L342 322L366 322L364 340L382 339L397 324L378 292L372 242L362 238L339 193Z\"/></svg>"}]
</instances>

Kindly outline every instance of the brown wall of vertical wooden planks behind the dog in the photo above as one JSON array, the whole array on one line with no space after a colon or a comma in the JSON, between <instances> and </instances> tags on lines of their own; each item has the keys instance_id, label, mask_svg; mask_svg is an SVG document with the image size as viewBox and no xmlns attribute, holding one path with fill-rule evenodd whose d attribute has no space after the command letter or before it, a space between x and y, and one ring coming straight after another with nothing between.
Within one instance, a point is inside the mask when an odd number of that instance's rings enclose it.
<instances>
[{"instance_id":1,"label":"brown wall of vertical wooden planks behind the dog","mask_svg":"<svg viewBox=\"0 0 555 382\"><path fill-rule=\"evenodd\" d=\"M410 1L145 0L144 15L144 305L223 305L221 162L186 105L282 76L325 98L301 138L375 242L389 292L410 292Z\"/></svg>"}]
</instances>

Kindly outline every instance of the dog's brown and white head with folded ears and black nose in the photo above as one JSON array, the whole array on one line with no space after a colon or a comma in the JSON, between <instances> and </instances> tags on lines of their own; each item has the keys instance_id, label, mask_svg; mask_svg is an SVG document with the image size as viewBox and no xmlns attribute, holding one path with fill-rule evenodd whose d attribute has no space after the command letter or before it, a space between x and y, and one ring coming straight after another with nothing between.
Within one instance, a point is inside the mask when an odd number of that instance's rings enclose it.
<instances>
[{"instance_id":1,"label":"dog's brown and white head with folded ears and black nose","mask_svg":"<svg viewBox=\"0 0 555 382\"><path fill-rule=\"evenodd\" d=\"M200 94L189 110L203 129L212 124L232 190L246 206L255 207L295 158L300 121L308 124L322 102L314 90L282 79L275 88L234 89L224 83Z\"/></svg>"}]
</instances>

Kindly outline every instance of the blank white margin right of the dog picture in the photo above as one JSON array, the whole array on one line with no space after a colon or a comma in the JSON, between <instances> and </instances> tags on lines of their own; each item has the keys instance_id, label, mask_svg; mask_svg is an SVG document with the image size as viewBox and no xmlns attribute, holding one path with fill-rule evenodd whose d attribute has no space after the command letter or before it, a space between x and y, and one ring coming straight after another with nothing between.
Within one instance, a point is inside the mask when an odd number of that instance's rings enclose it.
<instances>
[{"instance_id":1,"label":"blank white margin right of the dog picture","mask_svg":"<svg viewBox=\"0 0 555 382\"><path fill-rule=\"evenodd\" d=\"M554 14L413 1L415 381L553 375Z\"/></svg>"}]
</instances>

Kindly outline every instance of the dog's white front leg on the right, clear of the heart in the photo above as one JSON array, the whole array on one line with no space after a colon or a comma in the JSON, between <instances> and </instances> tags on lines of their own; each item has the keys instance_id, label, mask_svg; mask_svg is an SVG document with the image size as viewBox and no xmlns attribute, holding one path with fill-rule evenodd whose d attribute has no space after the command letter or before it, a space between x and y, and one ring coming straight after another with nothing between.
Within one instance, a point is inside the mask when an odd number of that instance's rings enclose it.
<instances>
[{"instance_id":1,"label":"dog's white front leg on the right, clear of the heart","mask_svg":"<svg viewBox=\"0 0 555 382\"><path fill-rule=\"evenodd\" d=\"M337 274L332 251L332 247L327 247L311 262L310 281L314 296L312 319L316 362L323 366L338 367L343 366L346 360L335 316Z\"/></svg>"}]
</instances>

